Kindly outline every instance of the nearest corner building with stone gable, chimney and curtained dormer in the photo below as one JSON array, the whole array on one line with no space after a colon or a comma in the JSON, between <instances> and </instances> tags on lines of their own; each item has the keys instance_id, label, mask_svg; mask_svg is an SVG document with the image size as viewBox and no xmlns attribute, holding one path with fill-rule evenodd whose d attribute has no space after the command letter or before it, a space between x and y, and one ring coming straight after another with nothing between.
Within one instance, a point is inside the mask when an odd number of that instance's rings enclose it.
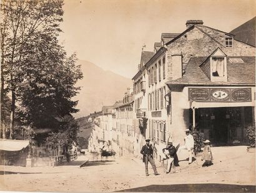
<instances>
[{"instance_id":1,"label":"nearest corner building with stone gable, chimney and curtained dormer","mask_svg":"<svg viewBox=\"0 0 256 193\"><path fill-rule=\"evenodd\" d=\"M210 117L215 113L215 118L218 121L221 119L217 118L217 114L225 114L222 111L230 111L230 116L232 112L237 111L237 109L223 110L221 107L254 106L252 93L254 93L255 88L255 76L250 75L250 73L254 74L255 71L255 60L253 60L255 47L235 40L232 34L204 26L202 21L187 21L186 28L180 34L162 34L160 44L154 44L154 55L144 65L140 65L139 72L133 78L135 88L138 87L137 85L140 82L145 81L143 95L141 92L135 92L135 104L136 98L141 95L142 99L139 99L139 103L145 108L144 115L146 115L143 125L145 138L154 139L157 149L155 158L159 160L161 155L158 153L170 138L177 143L183 143L185 129L189 128L190 125L196 126L195 119L200 114L195 113L194 109L199 108L196 105L205 105L204 102L199 103L197 101L195 103L195 101L190 100L189 93L193 90L189 90L188 86L195 88L199 86L209 87L209 92L226 92L229 98L232 93L234 95L242 93L241 95L250 96L250 99L245 101L209 101L208 106L205 107L218 107L219 109L217 111L214 109L214 111L202 115ZM232 60L238 62L232 63L230 62ZM242 62L239 63L240 60ZM216 70L217 68L222 70ZM233 80L232 76L240 76L239 72L250 78L247 81L245 79ZM200 82L200 76L203 75L205 79ZM187 83L187 87L184 86L185 83ZM228 85L229 89L232 86L232 89L235 88L235 90L225 90ZM219 90L212 90L212 87L217 88L217 86L219 86ZM237 90L237 87L245 88L245 90ZM144 105L143 101L146 101L147 105ZM199 109L204 110L203 108ZM241 117L244 112L242 109L239 110ZM252 108L248 110L245 108L245 111L249 112L251 118L254 117L254 115L251 115ZM214 116L211 118L214 118ZM218 121L215 121L215 123L218 123ZM246 125L246 121L243 124ZM197 126L202 128L202 125L204 125L202 121L197 121ZM210 127L210 125L207 127ZM215 128L217 127L216 125ZM202 130L207 137L210 135L207 128ZM217 135L215 138L217 138ZM230 140L232 139L230 138ZM227 143L227 140L225 142Z\"/></svg>"}]
</instances>

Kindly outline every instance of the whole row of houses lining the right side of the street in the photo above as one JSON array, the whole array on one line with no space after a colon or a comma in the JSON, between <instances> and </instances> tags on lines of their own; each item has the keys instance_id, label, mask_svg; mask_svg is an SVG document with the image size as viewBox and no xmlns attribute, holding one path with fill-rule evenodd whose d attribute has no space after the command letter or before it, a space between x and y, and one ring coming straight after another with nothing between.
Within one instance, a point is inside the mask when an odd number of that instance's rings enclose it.
<instances>
[{"instance_id":1,"label":"whole row of houses lining the right side of the street","mask_svg":"<svg viewBox=\"0 0 256 193\"><path fill-rule=\"evenodd\" d=\"M142 50L132 81L122 101L102 108L89 147L97 139L120 156L140 156L149 138L160 160L160 149L170 140L182 144L192 126L215 145L247 143L246 127L255 122L255 44L189 20L184 32L163 33L153 52Z\"/></svg>"}]
</instances>

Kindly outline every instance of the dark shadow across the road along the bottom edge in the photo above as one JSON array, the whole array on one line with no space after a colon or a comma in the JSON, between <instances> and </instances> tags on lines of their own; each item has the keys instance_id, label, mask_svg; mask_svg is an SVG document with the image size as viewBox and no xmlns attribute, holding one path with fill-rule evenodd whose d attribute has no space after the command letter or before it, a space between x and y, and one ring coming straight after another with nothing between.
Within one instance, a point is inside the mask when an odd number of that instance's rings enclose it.
<instances>
[{"instance_id":1,"label":"dark shadow across the road along the bottom edge","mask_svg":"<svg viewBox=\"0 0 256 193\"><path fill-rule=\"evenodd\" d=\"M234 184L172 184L135 187L118 192L255 192L255 186Z\"/></svg>"}]
</instances>

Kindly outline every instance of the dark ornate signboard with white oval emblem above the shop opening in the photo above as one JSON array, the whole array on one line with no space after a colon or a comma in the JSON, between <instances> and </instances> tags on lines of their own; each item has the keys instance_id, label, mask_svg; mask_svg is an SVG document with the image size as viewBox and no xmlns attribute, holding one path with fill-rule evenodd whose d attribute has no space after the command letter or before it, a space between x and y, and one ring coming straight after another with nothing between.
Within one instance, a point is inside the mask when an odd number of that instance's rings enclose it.
<instances>
[{"instance_id":1,"label":"dark ornate signboard with white oval emblem above the shop opening","mask_svg":"<svg viewBox=\"0 0 256 193\"><path fill-rule=\"evenodd\" d=\"M252 101L251 88L189 88L190 101Z\"/></svg>"}]
</instances>

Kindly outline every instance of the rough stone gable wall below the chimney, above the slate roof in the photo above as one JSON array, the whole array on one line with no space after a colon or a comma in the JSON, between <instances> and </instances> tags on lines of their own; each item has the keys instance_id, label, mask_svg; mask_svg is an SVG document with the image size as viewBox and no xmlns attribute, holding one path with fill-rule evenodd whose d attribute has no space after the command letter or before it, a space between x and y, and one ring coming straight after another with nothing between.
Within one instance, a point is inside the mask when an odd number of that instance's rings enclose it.
<instances>
[{"instance_id":1,"label":"rough stone gable wall below the chimney, above the slate roof","mask_svg":"<svg viewBox=\"0 0 256 193\"><path fill-rule=\"evenodd\" d=\"M206 32L202 32L202 30ZM182 53L182 63L187 64L190 57L208 57L215 49L220 49L228 56L255 56L255 47L234 40L233 48L225 47L225 33L208 27L194 27L175 42L167 45L167 78L172 80L172 55Z\"/></svg>"}]
</instances>

